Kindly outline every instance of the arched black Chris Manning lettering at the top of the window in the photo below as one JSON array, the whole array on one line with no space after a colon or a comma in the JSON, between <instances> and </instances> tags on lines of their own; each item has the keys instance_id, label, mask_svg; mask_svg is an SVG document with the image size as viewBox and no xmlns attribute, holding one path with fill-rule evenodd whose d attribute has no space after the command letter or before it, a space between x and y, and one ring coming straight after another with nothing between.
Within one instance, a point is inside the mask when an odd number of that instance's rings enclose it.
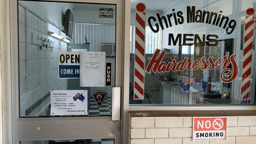
<instances>
[{"instance_id":1,"label":"arched black Chris Manning lettering at the top of the window","mask_svg":"<svg viewBox=\"0 0 256 144\"><path fill-rule=\"evenodd\" d=\"M187 23L198 22L198 23L206 23L212 24L215 26L219 26L220 28L225 29L226 33L231 34L236 28L236 20L232 19L229 21L229 18L222 15L223 11L219 11L218 13L210 12L210 11L202 11L200 9L195 10L195 6L187 6ZM175 25L183 24L184 17L182 16L182 11L175 12L175 9L172 9L173 13L168 14L166 16L160 17L159 13L156 14L157 18L151 16L148 18L148 24L150 29L157 33L160 30L164 30L163 24L165 24L166 28L169 28L172 25L171 19L174 19ZM158 21L158 22L157 22ZM152 24L155 22L154 24ZM153 27L153 25L155 27ZM156 29L154 29L156 28Z\"/></svg>"}]
</instances>

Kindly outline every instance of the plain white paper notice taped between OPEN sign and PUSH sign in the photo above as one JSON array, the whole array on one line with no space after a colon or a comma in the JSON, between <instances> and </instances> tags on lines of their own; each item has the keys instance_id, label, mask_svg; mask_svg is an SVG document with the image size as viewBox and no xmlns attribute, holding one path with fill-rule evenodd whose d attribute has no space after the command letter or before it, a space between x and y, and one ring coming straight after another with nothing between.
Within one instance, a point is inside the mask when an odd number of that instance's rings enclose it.
<instances>
[{"instance_id":1,"label":"plain white paper notice taped between OPEN sign and PUSH sign","mask_svg":"<svg viewBox=\"0 0 256 144\"><path fill-rule=\"evenodd\" d=\"M80 52L80 87L105 87L105 52Z\"/></svg>"}]
</instances>

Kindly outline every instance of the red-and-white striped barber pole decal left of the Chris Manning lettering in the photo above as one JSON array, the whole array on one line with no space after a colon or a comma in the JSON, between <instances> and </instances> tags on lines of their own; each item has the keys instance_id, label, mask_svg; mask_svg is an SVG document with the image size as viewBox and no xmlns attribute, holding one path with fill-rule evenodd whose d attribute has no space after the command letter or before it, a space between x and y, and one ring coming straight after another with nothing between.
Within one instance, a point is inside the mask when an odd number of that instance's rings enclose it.
<instances>
[{"instance_id":1,"label":"red-and-white striped barber pole decal left of the Chris Manning lettering","mask_svg":"<svg viewBox=\"0 0 256 144\"><path fill-rule=\"evenodd\" d=\"M135 16L134 100L144 100L146 6L139 3Z\"/></svg>"}]
</instances>

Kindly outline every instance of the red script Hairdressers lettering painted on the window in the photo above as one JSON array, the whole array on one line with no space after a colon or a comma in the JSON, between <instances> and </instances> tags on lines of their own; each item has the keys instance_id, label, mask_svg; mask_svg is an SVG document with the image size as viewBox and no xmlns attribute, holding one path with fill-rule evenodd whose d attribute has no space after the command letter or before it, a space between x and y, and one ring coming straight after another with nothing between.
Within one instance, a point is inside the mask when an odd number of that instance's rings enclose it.
<instances>
[{"instance_id":1,"label":"red script Hairdressers lettering painted on the window","mask_svg":"<svg viewBox=\"0 0 256 144\"><path fill-rule=\"evenodd\" d=\"M224 69L221 70L220 77L224 83L230 83L237 77L238 74L238 68L235 60L236 54L231 55L229 59L227 56L224 56L223 59L217 59L216 61L213 61L213 57L210 56L208 58L208 63L206 62L205 56L202 57L200 61L192 61L191 58L184 57L183 61L177 62L175 60L175 56L172 55L170 61L167 64L162 61L165 54L165 51L160 53L160 50L156 49L146 68L146 72L148 74L150 74L151 71L156 74L156 72L178 72L184 71L185 69L204 70L207 68L212 70L213 68L220 68L223 66ZM232 65L233 70L228 68L229 65Z\"/></svg>"}]
</instances>

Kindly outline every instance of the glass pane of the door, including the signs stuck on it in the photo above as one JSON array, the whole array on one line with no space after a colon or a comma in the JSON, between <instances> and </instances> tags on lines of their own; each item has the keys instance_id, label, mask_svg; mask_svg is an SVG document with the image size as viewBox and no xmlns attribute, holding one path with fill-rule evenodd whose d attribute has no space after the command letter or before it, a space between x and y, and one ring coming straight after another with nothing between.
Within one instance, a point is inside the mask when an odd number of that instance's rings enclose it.
<instances>
[{"instance_id":1,"label":"glass pane of the door, including the signs stuck on it","mask_svg":"<svg viewBox=\"0 0 256 144\"><path fill-rule=\"evenodd\" d=\"M20 117L111 115L116 6L19 0L18 9Z\"/></svg>"}]
</instances>

